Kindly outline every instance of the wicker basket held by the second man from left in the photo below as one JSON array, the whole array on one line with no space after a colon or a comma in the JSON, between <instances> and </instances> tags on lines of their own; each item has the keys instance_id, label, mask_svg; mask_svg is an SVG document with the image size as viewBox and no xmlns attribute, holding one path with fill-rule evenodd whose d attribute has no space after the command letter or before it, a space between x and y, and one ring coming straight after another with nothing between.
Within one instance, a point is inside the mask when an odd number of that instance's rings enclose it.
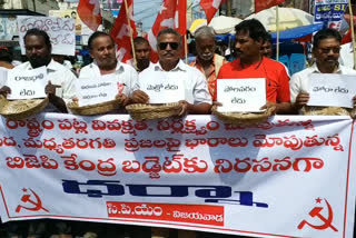
<instances>
[{"instance_id":1,"label":"wicker basket held by the second man from left","mask_svg":"<svg viewBox=\"0 0 356 238\"><path fill-rule=\"evenodd\" d=\"M78 102L71 101L67 105L68 109L73 115L81 115L81 116L92 116L92 115L102 115L109 111L117 110L121 107L121 100L116 99L111 101L106 101L97 105L89 105L83 107L78 107Z\"/></svg>"}]
</instances>

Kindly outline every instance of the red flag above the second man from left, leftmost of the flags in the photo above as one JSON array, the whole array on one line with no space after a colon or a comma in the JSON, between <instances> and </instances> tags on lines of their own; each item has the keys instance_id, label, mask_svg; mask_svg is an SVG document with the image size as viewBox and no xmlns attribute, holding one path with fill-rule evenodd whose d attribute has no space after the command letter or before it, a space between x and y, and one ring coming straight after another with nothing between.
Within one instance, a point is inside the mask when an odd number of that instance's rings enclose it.
<instances>
[{"instance_id":1,"label":"red flag above the second man from left, leftmost of the flags","mask_svg":"<svg viewBox=\"0 0 356 238\"><path fill-rule=\"evenodd\" d=\"M79 0L77 8L80 20L92 31L96 31L101 23L100 1Z\"/></svg>"}]
</instances>

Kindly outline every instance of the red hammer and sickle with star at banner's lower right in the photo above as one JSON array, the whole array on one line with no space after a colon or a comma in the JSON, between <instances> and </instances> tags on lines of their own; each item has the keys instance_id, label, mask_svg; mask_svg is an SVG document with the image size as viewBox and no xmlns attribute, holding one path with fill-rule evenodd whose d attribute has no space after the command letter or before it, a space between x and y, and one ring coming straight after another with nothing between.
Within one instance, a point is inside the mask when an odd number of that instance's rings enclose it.
<instances>
[{"instance_id":1,"label":"red hammer and sickle with star at banner's lower right","mask_svg":"<svg viewBox=\"0 0 356 238\"><path fill-rule=\"evenodd\" d=\"M322 201L323 201L323 199L320 199L320 198L317 198L317 199L315 199L315 200L316 200L316 204L322 204ZM333 217L334 217L334 215L333 215L333 208L332 208L332 206L329 205L329 202L328 202L326 199L324 199L324 200L325 200L325 204L326 204L327 210L328 210L328 216L327 216L327 218L326 218L324 215L322 215L322 211L324 210L324 207L315 207L315 208L313 208L313 209L310 210L310 212L309 212L309 216L310 216L312 218L317 218L319 222L320 222L320 220L322 220L324 224L320 225L320 226L316 226L316 225L309 224L309 222L306 221L306 220L303 220L303 221L298 225L298 229L299 229L299 230L301 230L301 229L305 227L305 225L308 225L308 226L312 227L313 229L317 229L317 230L325 230L325 229L327 229L327 228L332 228L335 232L338 231L338 230L333 226Z\"/></svg>"}]
</instances>

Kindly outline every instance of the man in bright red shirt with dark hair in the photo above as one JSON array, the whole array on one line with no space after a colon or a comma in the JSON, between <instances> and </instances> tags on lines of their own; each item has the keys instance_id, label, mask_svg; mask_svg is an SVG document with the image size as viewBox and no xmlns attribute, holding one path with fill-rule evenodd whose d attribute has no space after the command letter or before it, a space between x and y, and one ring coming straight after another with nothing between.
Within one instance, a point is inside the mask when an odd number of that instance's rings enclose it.
<instances>
[{"instance_id":1,"label":"man in bright red shirt with dark hair","mask_svg":"<svg viewBox=\"0 0 356 238\"><path fill-rule=\"evenodd\" d=\"M289 77L285 67L261 56L265 27L256 19L245 20L235 27L235 49L238 59L224 65L219 79L266 79L266 108L275 113L288 113L290 110ZM215 99L216 99L215 90Z\"/></svg>"}]
</instances>

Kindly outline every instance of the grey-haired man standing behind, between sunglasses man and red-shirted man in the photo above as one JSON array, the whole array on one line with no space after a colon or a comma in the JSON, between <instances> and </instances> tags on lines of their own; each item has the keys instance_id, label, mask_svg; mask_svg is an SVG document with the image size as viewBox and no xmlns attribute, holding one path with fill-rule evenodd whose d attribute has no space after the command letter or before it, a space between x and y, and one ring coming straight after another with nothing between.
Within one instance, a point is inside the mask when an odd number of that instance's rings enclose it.
<instances>
[{"instance_id":1,"label":"grey-haired man standing behind, between sunglasses man and red-shirted man","mask_svg":"<svg viewBox=\"0 0 356 238\"><path fill-rule=\"evenodd\" d=\"M211 27L204 26L195 33L197 58L190 62L189 66L197 68L201 71L208 82L208 89L214 96L216 77L224 63L227 61L224 57L215 53L216 42L215 32Z\"/></svg>"}]
</instances>

